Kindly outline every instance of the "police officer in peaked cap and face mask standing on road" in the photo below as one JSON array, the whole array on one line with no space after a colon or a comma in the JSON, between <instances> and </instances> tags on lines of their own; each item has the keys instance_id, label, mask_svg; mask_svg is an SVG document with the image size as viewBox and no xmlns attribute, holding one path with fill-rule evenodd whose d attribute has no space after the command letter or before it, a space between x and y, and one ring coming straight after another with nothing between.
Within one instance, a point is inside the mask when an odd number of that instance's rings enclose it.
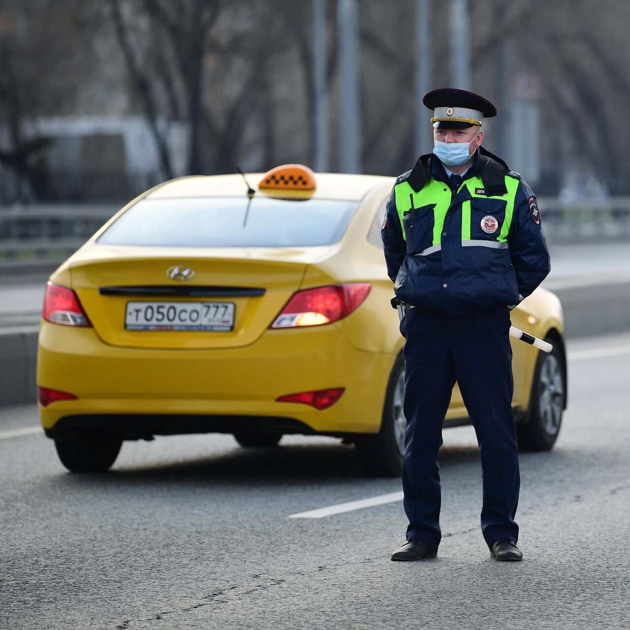
<instances>
[{"instance_id":1,"label":"police officer in peaked cap and face mask standing on road","mask_svg":"<svg viewBox=\"0 0 630 630\"><path fill-rule=\"evenodd\" d=\"M481 452L483 537L492 558L520 560L510 309L549 273L549 253L534 193L481 146L495 107L460 89L433 90L423 103L433 111L433 152L396 179L381 233L387 273L408 305L401 333L409 526L392 560L437 554L438 449L455 381Z\"/></svg>"}]
</instances>

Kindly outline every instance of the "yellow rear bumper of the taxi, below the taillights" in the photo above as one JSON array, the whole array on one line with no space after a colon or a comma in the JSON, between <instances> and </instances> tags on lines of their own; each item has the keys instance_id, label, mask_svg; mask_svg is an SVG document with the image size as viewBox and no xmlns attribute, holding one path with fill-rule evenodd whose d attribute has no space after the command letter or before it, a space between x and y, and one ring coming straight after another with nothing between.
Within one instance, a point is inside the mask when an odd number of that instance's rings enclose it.
<instances>
[{"instance_id":1,"label":"yellow rear bumper of the taxi, below the taillights","mask_svg":"<svg viewBox=\"0 0 630 630\"><path fill-rule=\"evenodd\" d=\"M130 438L252 425L375 433L394 358L356 350L335 326L270 330L244 348L146 350L108 346L92 328L43 322L37 383L77 399L40 405L40 419L50 437L81 427L111 427ZM326 410L276 401L329 387L345 391Z\"/></svg>"}]
</instances>

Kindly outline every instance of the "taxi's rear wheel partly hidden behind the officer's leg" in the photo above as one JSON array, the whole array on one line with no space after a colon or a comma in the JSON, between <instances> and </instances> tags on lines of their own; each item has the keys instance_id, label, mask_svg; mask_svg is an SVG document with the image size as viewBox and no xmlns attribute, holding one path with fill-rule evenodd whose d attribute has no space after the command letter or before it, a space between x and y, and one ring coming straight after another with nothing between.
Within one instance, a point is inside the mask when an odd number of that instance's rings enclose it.
<instances>
[{"instance_id":1,"label":"taxi's rear wheel partly hidden behind the officer's leg","mask_svg":"<svg viewBox=\"0 0 630 630\"><path fill-rule=\"evenodd\" d=\"M404 359L403 355L398 355L389 375L381 430L377 435L357 437L355 442L359 461L370 475L394 477L401 474L406 427L403 399Z\"/></svg>"}]
</instances>

